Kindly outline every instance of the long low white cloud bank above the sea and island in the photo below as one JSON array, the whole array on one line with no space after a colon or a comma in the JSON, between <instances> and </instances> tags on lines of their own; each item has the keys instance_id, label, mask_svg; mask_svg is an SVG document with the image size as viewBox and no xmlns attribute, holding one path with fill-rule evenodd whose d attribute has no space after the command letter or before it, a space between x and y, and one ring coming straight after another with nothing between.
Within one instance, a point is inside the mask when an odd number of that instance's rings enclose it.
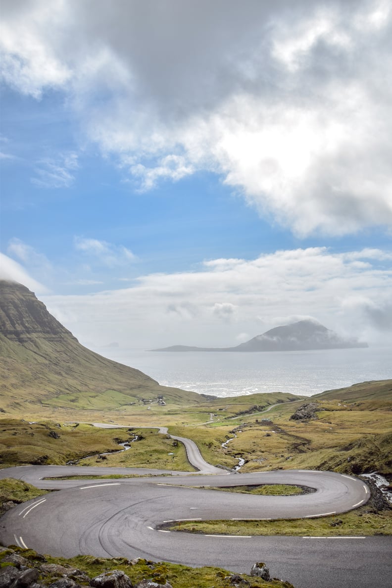
<instances>
[{"instance_id":1,"label":"long low white cloud bank above the sea and island","mask_svg":"<svg viewBox=\"0 0 392 588\"><path fill-rule=\"evenodd\" d=\"M145 349L167 345L230 346L279 324L302 318L370 342L382 336L366 305L384 308L392 267L368 252L325 248L282 250L253 260L227 260L198 271L140 276L130 288L83 296L46 296L53 312L82 341ZM383 252L378 256L383 258ZM219 300L219 302L216 302ZM225 320L229 318L230 320ZM222 320L223 319L223 320ZM381 333L381 335L380 335Z\"/></svg>"}]
</instances>

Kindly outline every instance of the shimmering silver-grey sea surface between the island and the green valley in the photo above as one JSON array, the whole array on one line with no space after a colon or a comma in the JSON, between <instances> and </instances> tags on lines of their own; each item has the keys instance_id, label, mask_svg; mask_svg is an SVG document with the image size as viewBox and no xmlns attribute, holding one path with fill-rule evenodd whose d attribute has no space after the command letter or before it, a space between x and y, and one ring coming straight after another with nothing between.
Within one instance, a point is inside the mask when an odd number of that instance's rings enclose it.
<instances>
[{"instance_id":1,"label":"shimmering silver-grey sea surface between the island and the green valley","mask_svg":"<svg viewBox=\"0 0 392 588\"><path fill-rule=\"evenodd\" d=\"M311 396L359 382L392 379L392 347L261 353L94 350L141 370L163 386L220 397L257 392Z\"/></svg>"}]
</instances>

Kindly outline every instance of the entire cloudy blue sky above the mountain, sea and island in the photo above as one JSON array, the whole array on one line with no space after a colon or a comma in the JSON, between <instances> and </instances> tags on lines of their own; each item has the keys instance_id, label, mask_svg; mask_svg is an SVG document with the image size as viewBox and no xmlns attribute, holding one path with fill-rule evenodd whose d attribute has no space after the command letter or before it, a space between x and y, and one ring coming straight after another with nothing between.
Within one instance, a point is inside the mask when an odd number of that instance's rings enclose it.
<instances>
[{"instance_id":1,"label":"entire cloudy blue sky above the mountain, sea and island","mask_svg":"<svg viewBox=\"0 0 392 588\"><path fill-rule=\"evenodd\" d=\"M388 0L2 0L1 277L87 346L392 335Z\"/></svg>"}]
</instances>

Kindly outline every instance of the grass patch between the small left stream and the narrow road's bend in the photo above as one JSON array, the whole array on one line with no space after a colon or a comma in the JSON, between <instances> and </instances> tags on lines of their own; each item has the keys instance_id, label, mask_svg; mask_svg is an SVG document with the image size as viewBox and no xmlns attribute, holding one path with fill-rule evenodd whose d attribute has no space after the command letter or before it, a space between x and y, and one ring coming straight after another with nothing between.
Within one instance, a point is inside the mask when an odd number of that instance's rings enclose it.
<instances>
[{"instance_id":1,"label":"grass patch between the small left stream and the narrow road's bend","mask_svg":"<svg viewBox=\"0 0 392 588\"><path fill-rule=\"evenodd\" d=\"M186 450L182 443L161 435L156 429L133 429L132 433L139 440L131 444L130 449L106 455L103 465L107 467L152 467L155 469L179 470L194 472L195 469L187 460ZM87 457L81 459L79 466L95 466L102 464L102 459Z\"/></svg>"}]
</instances>

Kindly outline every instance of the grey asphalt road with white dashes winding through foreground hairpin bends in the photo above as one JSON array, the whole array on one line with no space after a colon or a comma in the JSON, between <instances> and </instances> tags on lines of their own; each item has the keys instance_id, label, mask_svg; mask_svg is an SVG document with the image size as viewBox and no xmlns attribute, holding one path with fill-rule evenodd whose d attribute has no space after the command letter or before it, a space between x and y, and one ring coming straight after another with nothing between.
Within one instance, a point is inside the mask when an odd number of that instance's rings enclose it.
<instances>
[{"instance_id":1,"label":"grey asphalt road with white dashes winding through foreground hairpin bends","mask_svg":"<svg viewBox=\"0 0 392 588\"><path fill-rule=\"evenodd\" d=\"M202 462L196 467L208 471L209 465ZM288 580L296 588L392 585L390 537L233 537L225 536L225 527L220 536L159 530L162 523L173 520L180 528L183 520L317 517L346 512L366 503L370 496L361 480L334 472L280 470L239 477L218 471L214 475L190 475L105 467L105 473L153 476L86 481L42 478L102 475L103 468L22 466L0 470L1 478L15 477L41 488L61 489L6 513L0 519L0 542L64 557L79 553L146 557L190 566L221 566L237 573L249 573L254 562L264 561L272 576ZM292 483L316 491L279 497L195 487L239 483Z\"/></svg>"}]
</instances>

